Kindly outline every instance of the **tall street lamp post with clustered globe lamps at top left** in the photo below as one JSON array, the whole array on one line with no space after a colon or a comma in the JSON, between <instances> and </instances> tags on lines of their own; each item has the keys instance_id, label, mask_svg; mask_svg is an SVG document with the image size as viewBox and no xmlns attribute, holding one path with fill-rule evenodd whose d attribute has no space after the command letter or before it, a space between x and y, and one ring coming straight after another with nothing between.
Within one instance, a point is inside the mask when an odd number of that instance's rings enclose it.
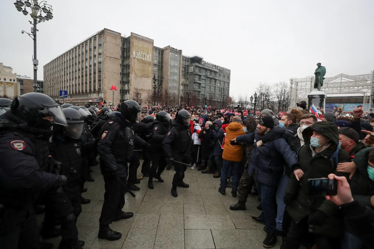
<instances>
[{"instance_id":1,"label":"tall street lamp post with clustered globe lamps at top left","mask_svg":"<svg viewBox=\"0 0 374 249\"><path fill-rule=\"evenodd\" d=\"M38 65L39 61L36 59L36 32L38 31L36 29L36 25L40 22L45 22L53 18L52 15L52 6L47 4L47 1L41 1L38 3L37 0L17 0L14 3L16 9L19 12L22 12L25 16L28 15L28 11L26 10L26 7L31 9L30 16L33 18L33 22L29 21L30 24L33 25L31 28L31 33L21 31L21 33L28 34L33 40L34 40L34 58L33 58L33 65L34 65L34 84L33 84L33 90L34 92L39 92L40 88L37 83L37 71L38 71ZM23 9L22 9L23 7ZM42 12L44 12L46 15L42 16ZM39 14L39 15L38 15Z\"/></svg>"}]
</instances>

